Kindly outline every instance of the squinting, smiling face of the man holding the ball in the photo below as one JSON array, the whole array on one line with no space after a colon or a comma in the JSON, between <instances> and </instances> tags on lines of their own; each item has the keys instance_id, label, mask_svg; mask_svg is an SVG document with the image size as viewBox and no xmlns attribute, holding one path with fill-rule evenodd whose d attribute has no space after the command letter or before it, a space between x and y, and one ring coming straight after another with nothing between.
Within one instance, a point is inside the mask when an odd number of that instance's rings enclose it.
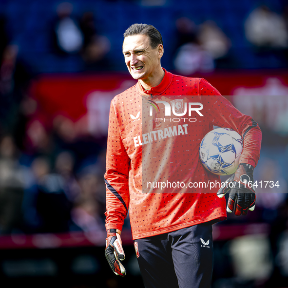
<instances>
[{"instance_id":1,"label":"squinting, smiling face of the man holding the ball","mask_svg":"<svg viewBox=\"0 0 288 288\"><path fill-rule=\"evenodd\" d=\"M141 81L145 89L147 85L148 88L157 86L164 77L160 64L163 52L163 45L159 44L153 49L146 35L124 38L123 54L127 68L134 79Z\"/></svg>"}]
</instances>

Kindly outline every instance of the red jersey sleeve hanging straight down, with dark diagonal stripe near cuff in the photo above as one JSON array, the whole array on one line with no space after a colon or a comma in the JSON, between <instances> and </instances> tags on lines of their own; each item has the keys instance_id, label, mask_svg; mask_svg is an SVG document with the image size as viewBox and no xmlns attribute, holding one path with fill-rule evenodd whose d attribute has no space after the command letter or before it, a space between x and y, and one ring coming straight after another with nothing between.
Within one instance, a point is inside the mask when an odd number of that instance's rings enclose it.
<instances>
[{"instance_id":1,"label":"red jersey sleeve hanging straight down, with dark diagonal stripe near cuff","mask_svg":"<svg viewBox=\"0 0 288 288\"><path fill-rule=\"evenodd\" d=\"M129 208L130 158L123 146L119 131L119 116L112 100L109 114L106 154L106 230L122 230ZM115 101L116 103L116 101Z\"/></svg>"}]
</instances>

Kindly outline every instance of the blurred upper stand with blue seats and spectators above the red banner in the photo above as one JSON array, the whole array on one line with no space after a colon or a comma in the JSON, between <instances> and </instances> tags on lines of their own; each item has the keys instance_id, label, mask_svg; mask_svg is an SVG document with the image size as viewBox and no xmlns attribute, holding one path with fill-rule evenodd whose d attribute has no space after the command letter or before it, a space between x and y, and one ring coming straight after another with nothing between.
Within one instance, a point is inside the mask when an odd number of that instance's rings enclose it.
<instances>
[{"instance_id":1,"label":"blurred upper stand with blue seats and spectators above the red banner","mask_svg":"<svg viewBox=\"0 0 288 288\"><path fill-rule=\"evenodd\" d=\"M123 31L137 21L161 30L165 67L182 74L287 66L285 2L27 1L0 2L1 52L7 42L18 46L18 58L34 73L123 70Z\"/></svg>"}]
</instances>

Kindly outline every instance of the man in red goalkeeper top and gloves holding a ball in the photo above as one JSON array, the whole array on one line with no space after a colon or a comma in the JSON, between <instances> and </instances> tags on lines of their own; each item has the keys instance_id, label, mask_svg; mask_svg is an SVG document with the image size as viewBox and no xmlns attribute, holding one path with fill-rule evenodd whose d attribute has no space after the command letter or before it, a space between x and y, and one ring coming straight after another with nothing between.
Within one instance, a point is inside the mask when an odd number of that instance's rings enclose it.
<instances>
[{"instance_id":1,"label":"man in red goalkeeper top and gloves holding a ball","mask_svg":"<svg viewBox=\"0 0 288 288\"><path fill-rule=\"evenodd\" d=\"M124 276L120 235L129 211L146 288L209 288L212 224L227 218L224 194L230 192L227 211L254 210L255 192L244 178L253 181L261 131L205 79L163 69L162 37L152 25L129 27L122 49L138 82L115 96L110 107L105 256L115 274ZM199 159L200 142L213 125L244 139L239 167L229 179L234 188L190 188L189 183L220 182Z\"/></svg>"}]
</instances>

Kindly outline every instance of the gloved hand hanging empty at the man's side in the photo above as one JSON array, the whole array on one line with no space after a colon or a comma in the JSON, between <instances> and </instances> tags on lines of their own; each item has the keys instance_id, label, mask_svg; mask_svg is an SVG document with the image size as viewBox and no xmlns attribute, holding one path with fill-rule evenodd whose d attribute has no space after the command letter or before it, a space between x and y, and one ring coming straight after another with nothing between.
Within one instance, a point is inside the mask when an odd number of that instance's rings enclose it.
<instances>
[{"instance_id":1,"label":"gloved hand hanging empty at the man's side","mask_svg":"<svg viewBox=\"0 0 288 288\"><path fill-rule=\"evenodd\" d=\"M106 238L105 257L116 275L125 276L126 270L119 260L125 259L120 230L108 229Z\"/></svg>"}]
</instances>

